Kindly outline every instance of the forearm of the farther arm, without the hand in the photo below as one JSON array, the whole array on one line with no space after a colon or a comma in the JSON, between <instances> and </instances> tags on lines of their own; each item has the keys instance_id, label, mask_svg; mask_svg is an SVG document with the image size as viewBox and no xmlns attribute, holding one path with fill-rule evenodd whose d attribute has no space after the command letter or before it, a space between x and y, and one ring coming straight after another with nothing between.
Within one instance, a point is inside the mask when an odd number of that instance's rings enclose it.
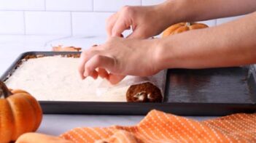
<instances>
[{"instance_id":1,"label":"forearm of the farther arm, without the hand","mask_svg":"<svg viewBox=\"0 0 256 143\"><path fill-rule=\"evenodd\" d=\"M255 0L167 0L158 7L171 25L245 15L256 11L256 2Z\"/></svg>"}]
</instances>

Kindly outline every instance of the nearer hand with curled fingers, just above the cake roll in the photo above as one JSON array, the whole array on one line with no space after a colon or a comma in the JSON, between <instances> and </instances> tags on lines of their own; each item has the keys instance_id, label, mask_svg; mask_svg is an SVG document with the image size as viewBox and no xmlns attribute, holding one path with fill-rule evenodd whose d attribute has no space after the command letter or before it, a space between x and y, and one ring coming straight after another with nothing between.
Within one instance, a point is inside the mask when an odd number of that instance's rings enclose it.
<instances>
[{"instance_id":1,"label":"nearer hand with curled fingers, just above the cake roll","mask_svg":"<svg viewBox=\"0 0 256 143\"><path fill-rule=\"evenodd\" d=\"M115 84L124 75L147 76L158 73L160 69L157 60L157 39L112 37L106 44L93 46L82 52L79 74L83 79L88 76L98 78L100 75Z\"/></svg>"}]
</instances>

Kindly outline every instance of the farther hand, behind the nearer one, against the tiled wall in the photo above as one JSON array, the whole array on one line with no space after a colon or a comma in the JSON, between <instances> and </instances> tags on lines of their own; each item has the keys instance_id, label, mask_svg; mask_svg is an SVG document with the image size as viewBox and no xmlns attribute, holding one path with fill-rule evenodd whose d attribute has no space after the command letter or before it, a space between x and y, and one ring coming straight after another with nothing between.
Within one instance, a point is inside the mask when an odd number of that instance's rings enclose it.
<instances>
[{"instance_id":1,"label":"farther hand, behind the nearer one, against the tiled wall","mask_svg":"<svg viewBox=\"0 0 256 143\"><path fill-rule=\"evenodd\" d=\"M150 38L158 35L170 25L162 5L150 7L125 6L106 21L108 36L121 36L124 30L132 28L128 38Z\"/></svg>"}]
</instances>

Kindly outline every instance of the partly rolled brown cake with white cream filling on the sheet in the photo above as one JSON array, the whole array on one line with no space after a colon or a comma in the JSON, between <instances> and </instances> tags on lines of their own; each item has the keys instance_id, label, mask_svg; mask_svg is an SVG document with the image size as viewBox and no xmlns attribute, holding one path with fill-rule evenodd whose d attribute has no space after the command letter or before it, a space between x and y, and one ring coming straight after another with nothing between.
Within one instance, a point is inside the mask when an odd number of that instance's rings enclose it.
<instances>
[{"instance_id":1,"label":"partly rolled brown cake with white cream filling on the sheet","mask_svg":"<svg viewBox=\"0 0 256 143\"><path fill-rule=\"evenodd\" d=\"M150 78L127 76L115 86L102 78L80 79L79 58L26 57L5 83L29 91L39 101L161 102L162 93ZM162 75L163 73L161 73ZM103 84L104 83L104 84ZM135 84L135 85L134 85ZM104 85L104 86L102 86Z\"/></svg>"}]
</instances>

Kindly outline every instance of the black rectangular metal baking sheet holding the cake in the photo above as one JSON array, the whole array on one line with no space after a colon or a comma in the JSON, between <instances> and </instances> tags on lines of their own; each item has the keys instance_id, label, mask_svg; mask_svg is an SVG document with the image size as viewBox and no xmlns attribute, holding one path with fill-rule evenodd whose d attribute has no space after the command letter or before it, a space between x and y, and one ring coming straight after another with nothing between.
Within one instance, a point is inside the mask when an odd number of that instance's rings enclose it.
<instances>
[{"instance_id":1,"label":"black rectangular metal baking sheet holding the cake","mask_svg":"<svg viewBox=\"0 0 256 143\"><path fill-rule=\"evenodd\" d=\"M27 55L53 56L78 52L26 52L1 76L4 81ZM203 70L171 69L161 103L42 101L44 113L145 115L162 110L177 115L228 115L256 111L256 72L253 66Z\"/></svg>"}]
</instances>

